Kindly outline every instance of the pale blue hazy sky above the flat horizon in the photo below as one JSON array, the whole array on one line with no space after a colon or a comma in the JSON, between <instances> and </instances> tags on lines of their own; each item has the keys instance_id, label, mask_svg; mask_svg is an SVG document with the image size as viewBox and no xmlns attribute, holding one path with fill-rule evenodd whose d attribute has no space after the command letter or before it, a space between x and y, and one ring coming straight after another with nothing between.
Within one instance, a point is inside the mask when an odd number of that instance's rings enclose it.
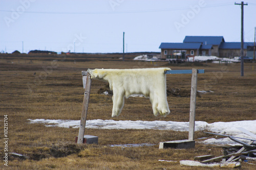
<instances>
[{"instance_id":1,"label":"pale blue hazy sky above the flat horizon","mask_svg":"<svg viewBox=\"0 0 256 170\"><path fill-rule=\"evenodd\" d=\"M235 1L0 0L0 52L160 52L188 36L241 40ZM241 3L236 2L236 3ZM245 1L244 40L254 41L256 2Z\"/></svg>"}]
</instances>

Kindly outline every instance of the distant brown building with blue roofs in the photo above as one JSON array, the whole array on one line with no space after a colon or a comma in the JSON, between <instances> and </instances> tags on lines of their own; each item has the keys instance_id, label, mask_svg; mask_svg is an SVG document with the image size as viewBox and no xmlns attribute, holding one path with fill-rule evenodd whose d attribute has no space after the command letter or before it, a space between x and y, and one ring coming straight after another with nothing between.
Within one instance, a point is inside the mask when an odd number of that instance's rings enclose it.
<instances>
[{"instance_id":1,"label":"distant brown building with blue roofs","mask_svg":"<svg viewBox=\"0 0 256 170\"><path fill-rule=\"evenodd\" d=\"M253 46L252 42L244 42L244 56L247 54L247 46ZM241 42L225 42L223 36L186 36L183 43L162 42L161 58L170 58L175 51L183 51L186 56L217 56L236 57L241 53Z\"/></svg>"}]
</instances>

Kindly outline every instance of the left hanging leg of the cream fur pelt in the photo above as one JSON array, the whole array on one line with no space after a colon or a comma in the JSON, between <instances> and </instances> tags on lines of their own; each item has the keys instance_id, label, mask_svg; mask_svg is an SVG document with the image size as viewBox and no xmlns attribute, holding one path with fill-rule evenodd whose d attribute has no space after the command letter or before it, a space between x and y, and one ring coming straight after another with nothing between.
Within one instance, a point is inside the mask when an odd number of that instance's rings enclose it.
<instances>
[{"instance_id":1,"label":"left hanging leg of the cream fur pelt","mask_svg":"<svg viewBox=\"0 0 256 170\"><path fill-rule=\"evenodd\" d=\"M124 105L124 93L113 91L112 101L113 101L112 117L118 116L121 113L121 110Z\"/></svg>"}]
</instances>

